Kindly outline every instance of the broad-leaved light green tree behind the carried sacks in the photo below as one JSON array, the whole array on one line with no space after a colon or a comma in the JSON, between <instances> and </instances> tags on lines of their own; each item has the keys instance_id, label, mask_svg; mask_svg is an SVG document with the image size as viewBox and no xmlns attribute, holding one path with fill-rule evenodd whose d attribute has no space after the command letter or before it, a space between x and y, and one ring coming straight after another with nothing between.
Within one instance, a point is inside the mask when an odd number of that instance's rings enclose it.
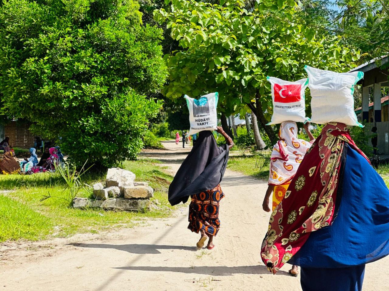
<instances>
[{"instance_id":1,"label":"broad-leaved light green tree behind the carried sacks","mask_svg":"<svg viewBox=\"0 0 389 291\"><path fill-rule=\"evenodd\" d=\"M257 0L251 9L245 5L240 0L172 0L170 12L154 11L180 45L165 56L169 83L164 93L178 99L187 92L197 97L217 91L221 113L244 115L251 109L274 143L275 132L266 126L272 114L266 76L297 80L306 77L305 64L348 71L358 56L329 32L317 33L293 0Z\"/></svg>"}]
</instances>

